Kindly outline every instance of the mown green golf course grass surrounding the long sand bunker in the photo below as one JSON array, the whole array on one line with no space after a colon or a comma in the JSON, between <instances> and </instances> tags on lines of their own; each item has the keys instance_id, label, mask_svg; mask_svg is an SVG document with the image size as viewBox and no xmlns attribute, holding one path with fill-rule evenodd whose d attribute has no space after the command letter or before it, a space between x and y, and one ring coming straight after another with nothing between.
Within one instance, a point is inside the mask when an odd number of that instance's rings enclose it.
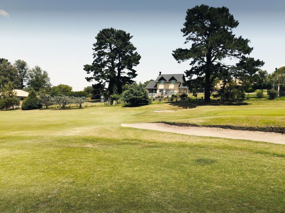
<instances>
[{"instance_id":1,"label":"mown green golf course grass surrounding the long sand bunker","mask_svg":"<svg viewBox=\"0 0 285 213\"><path fill-rule=\"evenodd\" d=\"M284 106L273 100L0 111L0 212L284 212L285 145L120 126L285 127Z\"/></svg>"}]
</instances>

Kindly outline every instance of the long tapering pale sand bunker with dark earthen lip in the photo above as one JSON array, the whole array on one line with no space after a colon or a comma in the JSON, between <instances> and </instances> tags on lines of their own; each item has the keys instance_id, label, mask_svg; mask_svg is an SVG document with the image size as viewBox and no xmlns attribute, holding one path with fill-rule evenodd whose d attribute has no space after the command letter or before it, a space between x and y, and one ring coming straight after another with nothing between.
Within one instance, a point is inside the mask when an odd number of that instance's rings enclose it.
<instances>
[{"instance_id":1,"label":"long tapering pale sand bunker with dark earthen lip","mask_svg":"<svg viewBox=\"0 0 285 213\"><path fill-rule=\"evenodd\" d=\"M164 123L122 123L123 127L133 127L138 129L158 130L187 135L223 137L231 139L264 141L276 144L285 144L285 135L273 132L230 130L214 127L178 127Z\"/></svg>"}]
</instances>

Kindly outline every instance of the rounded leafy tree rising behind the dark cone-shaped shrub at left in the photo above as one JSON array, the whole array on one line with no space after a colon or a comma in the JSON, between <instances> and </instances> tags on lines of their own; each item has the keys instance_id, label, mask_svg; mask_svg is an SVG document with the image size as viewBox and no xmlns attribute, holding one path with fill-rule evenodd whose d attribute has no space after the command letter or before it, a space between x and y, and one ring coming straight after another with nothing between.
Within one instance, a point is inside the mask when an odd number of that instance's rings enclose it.
<instances>
[{"instance_id":1,"label":"rounded leafy tree rising behind the dark cone-shaped shrub at left","mask_svg":"<svg viewBox=\"0 0 285 213\"><path fill-rule=\"evenodd\" d=\"M27 86L33 88L36 92L40 89L48 89L51 86L48 73L39 66L35 66L29 72Z\"/></svg>"}]
</instances>

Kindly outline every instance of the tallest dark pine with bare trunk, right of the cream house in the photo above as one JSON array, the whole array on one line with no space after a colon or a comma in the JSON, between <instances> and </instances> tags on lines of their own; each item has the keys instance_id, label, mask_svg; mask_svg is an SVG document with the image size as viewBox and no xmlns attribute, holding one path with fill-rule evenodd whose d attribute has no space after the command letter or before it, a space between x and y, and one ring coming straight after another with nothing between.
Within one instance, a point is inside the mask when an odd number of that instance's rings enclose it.
<instances>
[{"instance_id":1,"label":"tallest dark pine with bare trunk, right of the cream house","mask_svg":"<svg viewBox=\"0 0 285 213\"><path fill-rule=\"evenodd\" d=\"M211 87L215 80L238 78L247 81L264 63L246 57L253 50L248 46L250 40L236 37L232 29L239 22L233 18L226 7L215 8L207 5L187 10L184 28L185 44L192 42L190 49L178 48L173 57L181 63L191 60L190 70L185 74L190 79L188 85L203 84L205 101L210 101ZM224 59L238 59L236 65L228 65Z\"/></svg>"}]
</instances>

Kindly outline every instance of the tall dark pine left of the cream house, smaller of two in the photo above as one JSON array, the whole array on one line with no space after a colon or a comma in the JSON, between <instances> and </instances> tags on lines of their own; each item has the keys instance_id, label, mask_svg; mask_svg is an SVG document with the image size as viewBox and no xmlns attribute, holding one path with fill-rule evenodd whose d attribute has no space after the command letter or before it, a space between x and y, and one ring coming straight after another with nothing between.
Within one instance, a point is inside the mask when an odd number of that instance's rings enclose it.
<instances>
[{"instance_id":1,"label":"tall dark pine left of the cream house, smaller of two","mask_svg":"<svg viewBox=\"0 0 285 213\"><path fill-rule=\"evenodd\" d=\"M93 73L85 79L98 82L93 85L96 94L104 93L106 84L110 95L121 94L122 85L132 83L137 76L133 66L139 64L141 56L134 52L136 47L130 42L131 38L129 33L114 28L102 29L97 34L93 44L94 61L84 66L87 74Z\"/></svg>"}]
</instances>

